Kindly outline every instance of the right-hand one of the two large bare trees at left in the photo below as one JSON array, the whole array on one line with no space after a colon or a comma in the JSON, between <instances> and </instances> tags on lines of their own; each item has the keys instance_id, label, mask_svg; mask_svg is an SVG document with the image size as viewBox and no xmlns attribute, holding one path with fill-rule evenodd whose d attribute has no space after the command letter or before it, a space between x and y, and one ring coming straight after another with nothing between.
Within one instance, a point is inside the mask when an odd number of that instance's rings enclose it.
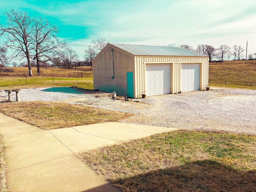
<instances>
[{"instance_id":1,"label":"right-hand one of the two large bare trees at left","mask_svg":"<svg viewBox=\"0 0 256 192\"><path fill-rule=\"evenodd\" d=\"M33 59L36 60L37 74L40 74L40 63L52 61L60 55L64 42L58 40L58 27L51 25L44 18L33 18Z\"/></svg>"}]
</instances>

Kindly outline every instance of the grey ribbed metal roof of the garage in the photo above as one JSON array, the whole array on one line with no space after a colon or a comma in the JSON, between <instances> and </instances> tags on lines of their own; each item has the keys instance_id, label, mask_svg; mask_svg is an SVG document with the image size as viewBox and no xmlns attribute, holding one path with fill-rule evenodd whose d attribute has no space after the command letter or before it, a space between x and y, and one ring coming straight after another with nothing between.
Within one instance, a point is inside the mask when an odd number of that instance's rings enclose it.
<instances>
[{"instance_id":1,"label":"grey ribbed metal roof of the garage","mask_svg":"<svg viewBox=\"0 0 256 192\"><path fill-rule=\"evenodd\" d=\"M190 51L180 47L170 46L151 46L151 45L130 45L130 44L117 44L109 43L120 49L123 49L134 55L153 55L153 56L201 56L207 55L198 52Z\"/></svg>"}]
</instances>

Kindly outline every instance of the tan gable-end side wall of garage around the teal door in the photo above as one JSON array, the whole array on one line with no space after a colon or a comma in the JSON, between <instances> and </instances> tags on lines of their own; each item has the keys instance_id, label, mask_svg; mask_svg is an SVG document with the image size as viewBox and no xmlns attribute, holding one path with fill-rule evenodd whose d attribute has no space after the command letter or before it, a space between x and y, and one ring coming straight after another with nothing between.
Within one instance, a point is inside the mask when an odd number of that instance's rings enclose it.
<instances>
[{"instance_id":1,"label":"tan gable-end side wall of garage around the teal door","mask_svg":"<svg viewBox=\"0 0 256 192\"><path fill-rule=\"evenodd\" d=\"M114 50L114 71L112 49ZM126 72L134 73L132 54L114 46L107 46L93 60L92 67L94 89L127 95Z\"/></svg>"}]
</instances>

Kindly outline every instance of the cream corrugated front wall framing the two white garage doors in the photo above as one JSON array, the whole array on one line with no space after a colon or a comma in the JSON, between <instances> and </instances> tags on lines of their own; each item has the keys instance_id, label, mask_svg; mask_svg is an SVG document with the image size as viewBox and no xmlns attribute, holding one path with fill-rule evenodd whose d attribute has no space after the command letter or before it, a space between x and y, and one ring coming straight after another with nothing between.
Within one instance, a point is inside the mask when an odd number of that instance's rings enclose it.
<instances>
[{"instance_id":1,"label":"cream corrugated front wall framing the two white garage doors","mask_svg":"<svg viewBox=\"0 0 256 192\"><path fill-rule=\"evenodd\" d=\"M200 63L200 90L208 85L208 57L199 56L135 56L135 98L141 97L145 91L145 71L147 63L170 63L171 64L171 93L180 91L180 74L182 63Z\"/></svg>"}]
</instances>

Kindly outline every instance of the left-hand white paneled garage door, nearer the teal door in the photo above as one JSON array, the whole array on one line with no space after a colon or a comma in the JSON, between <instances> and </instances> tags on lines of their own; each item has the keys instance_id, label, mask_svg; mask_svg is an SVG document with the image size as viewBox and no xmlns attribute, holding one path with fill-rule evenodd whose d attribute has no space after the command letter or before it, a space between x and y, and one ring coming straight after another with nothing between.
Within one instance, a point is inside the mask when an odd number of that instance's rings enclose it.
<instances>
[{"instance_id":1,"label":"left-hand white paneled garage door, nearer the teal door","mask_svg":"<svg viewBox=\"0 0 256 192\"><path fill-rule=\"evenodd\" d=\"M146 64L146 94L148 96L171 93L171 65Z\"/></svg>"}]
</instances>

